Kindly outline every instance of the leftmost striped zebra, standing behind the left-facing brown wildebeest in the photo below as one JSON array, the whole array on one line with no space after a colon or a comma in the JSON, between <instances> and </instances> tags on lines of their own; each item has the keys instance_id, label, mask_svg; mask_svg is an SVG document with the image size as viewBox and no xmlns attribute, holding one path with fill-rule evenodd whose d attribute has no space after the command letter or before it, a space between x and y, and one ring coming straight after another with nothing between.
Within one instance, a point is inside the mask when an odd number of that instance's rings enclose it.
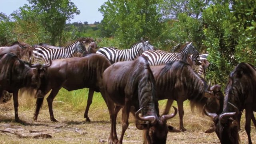
<instances>
[{"instance_id":1,"label":"leftmost striped zebra, standing behind the left-facing brown wildebeest","mask_svg":"<svg viewBox=\"0 0 256 144\"><path fill-rule=\"evenodd\" d=\"M35 62L48 62L48 60L55 60L60 58L74 57L78 52L83 56L87 54L83 42L75 41L65 48L48 48L39 46L33 50L33 57Z\"/></svg>"}]
</instances>

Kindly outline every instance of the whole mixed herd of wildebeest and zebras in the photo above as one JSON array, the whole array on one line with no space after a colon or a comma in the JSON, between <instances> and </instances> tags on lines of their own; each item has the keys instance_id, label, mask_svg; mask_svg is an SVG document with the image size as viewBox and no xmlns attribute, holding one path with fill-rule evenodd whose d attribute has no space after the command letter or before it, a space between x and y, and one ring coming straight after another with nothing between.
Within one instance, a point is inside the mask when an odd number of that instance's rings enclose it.
<instances>
[{"instance_id":1,"label":"whole mixed herd of wildebeest and zebras","mask_svg":"<svg viewBox=\"0 0 256 144\"><path fill-rule=\"evenodd\" d=\"M256 68L245 62L238 64L229 76L224 96L220 85L211 86L204 78L208 54L200 54L192 42L176 47L180 47L179 52L156 50L143 39L124 50L97 48L92 38L78 38L66 47L14 42L12 46L0 47L0 99L4 91L13 94L14 118L22 123L18 117L18 90L36 90L34 120L45 95L52 90L46 100L50 120L58 122L52 103L59 90L89 88L84 118L90 121L88 111L93 93L100 92L110 114L109 143L122 143L131 112L136 128L143 130L144 143L165 144L168 132L186 131L183 102L190 100L192 109L203 111L214 122L206 133L216 132L222 144L238 144L245 109L245 130L248 143L252 144L250 120L256 126ZM30 59L24 60L24 56ZM164 99L168 101L160 115L158 100ZM174 113L168 114L174 100L178 110L173 106ZM122 133L118 140L116 117L121 109ZM167 125L167 120L177 113L179 130Z\"/></svg>"}]
</instances>

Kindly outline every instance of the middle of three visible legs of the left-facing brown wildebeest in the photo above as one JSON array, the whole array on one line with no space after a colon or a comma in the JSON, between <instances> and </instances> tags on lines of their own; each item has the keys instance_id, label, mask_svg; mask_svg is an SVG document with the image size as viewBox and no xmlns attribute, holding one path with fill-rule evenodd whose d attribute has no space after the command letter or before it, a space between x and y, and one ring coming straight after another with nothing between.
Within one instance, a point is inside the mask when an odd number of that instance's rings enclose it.
<instances>
[{"instance_id":1,"label":"middle of three visible legs of the left-facing brown wildebeest","mask_svg":"<svg viewBox=\"0 0 256 144\"><path fill-rule=\"evenodd\" d=\"M53 99L55 98L55 96L58 94L60 88L61 88L61 87L59 87L59 88L53 88L53 89L52 89L52 92L50 93L50 95L46 98L47 103L48 103L49 112L50 112L50 120L51 120L52 122L58 122L58 120L56 120L56 119L54 118L54 115L53 115L53 111L52 111L52 102L53 102Z\"/></svg>"}]
</instances>

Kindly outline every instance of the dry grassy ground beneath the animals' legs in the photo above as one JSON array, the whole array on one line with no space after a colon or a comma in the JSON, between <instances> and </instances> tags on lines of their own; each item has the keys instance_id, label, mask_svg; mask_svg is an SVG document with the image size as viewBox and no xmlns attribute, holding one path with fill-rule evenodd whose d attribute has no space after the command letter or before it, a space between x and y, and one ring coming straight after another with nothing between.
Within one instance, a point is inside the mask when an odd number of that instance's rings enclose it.
<instances>
[{"instance_id":1,"label":"dry grassy ground beneath the animals' legs","mask_svg":"<svg viewBox=\"0 0 256 144\"><path fill-rule=\"evenodd\" d=\"M52 135L52 138L18 138L15 134L0 132L1 144L97 144L108 143L110 133L110 119L104 100L99 93L94 93L92 105L88 116L90 123L83 118L86 107L88 90L76 90L68 92L61 89L53 103L55 118L58 123L50 122L47 102L44 101L42 110L38 116L38 122L32 120L34 113L35 99L28 96L19 96L19 116L28 124L18 124L14 122L14 108L12 101L0 104L0 129L17 130L26 134L30 130L36 130ZM166 100L160 101L160 110L164 110ZM177 106L175 103L174 106ZM173 112L173 110L172 110ZM188 102L184 103L184 126L186 132L169 133L167 144L212 144L219 143L215 133L205 134L211 124L210 118L201 114L193 114ZM118 115L117 133L121 133L121 116ZM124 136L124 144L142 143L142 132L136 129L134 118L130 115L130 125ZM168 120L168 124L178 128L178 114ZM242 116L242 130L239 132L240 142L248 143L248 138L244 130L244 114ZM255 128L251 126L252 142L256 142Z\"/></svg>"}]
</instances>

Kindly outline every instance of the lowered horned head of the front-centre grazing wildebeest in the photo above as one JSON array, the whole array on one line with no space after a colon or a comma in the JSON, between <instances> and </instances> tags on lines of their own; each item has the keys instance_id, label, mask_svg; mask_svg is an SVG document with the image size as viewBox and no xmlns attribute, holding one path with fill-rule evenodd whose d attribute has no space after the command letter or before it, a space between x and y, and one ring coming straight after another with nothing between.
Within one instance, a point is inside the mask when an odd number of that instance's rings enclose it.
<instances>
[{"instance_id":1,"label":"lowered horned head of the front-centre grazing wildebeest","mask_svg":"<svg viewBox=\"0 0 256 144\"><path fill-rule=\"evenodd\" d=\"M178 110L173 106L175 112L170 115L163 115L160 118L155 116L139 116L140 110L135 113L138 120L146 121L144 124L136 124L139 130L143 131L144 144L165 144L168 132L180 132L172 126L167 125L167 120L173 118Z\"/></svg>"}]
</instances>

